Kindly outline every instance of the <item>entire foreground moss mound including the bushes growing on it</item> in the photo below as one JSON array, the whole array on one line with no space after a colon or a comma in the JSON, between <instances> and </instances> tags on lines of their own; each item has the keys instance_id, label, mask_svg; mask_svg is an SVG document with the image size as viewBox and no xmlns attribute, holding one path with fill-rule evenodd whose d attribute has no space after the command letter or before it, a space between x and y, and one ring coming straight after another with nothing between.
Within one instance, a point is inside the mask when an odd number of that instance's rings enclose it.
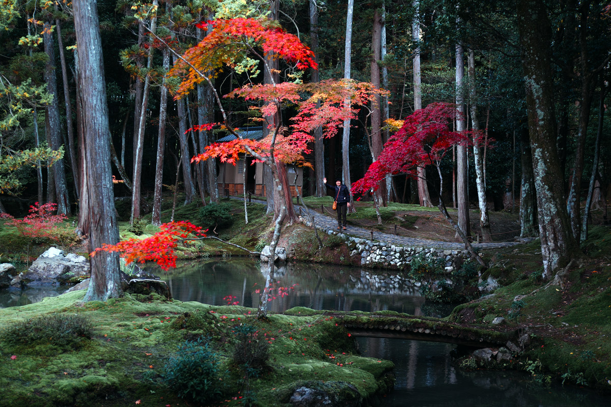
<instances>
[{"instance_id":1,"label":"entire foreground moss mound including the bushes growing on it","mask_svg":"<svg viewBox=\"0 0 611 407\"><path fill-rule=\"evenodd\" d=\"M0 406L241 405L244 398L280 406L304 383L360 405L392 388L392 362L355 355L352 339L324 313L257 320L254 309L156 294L89 303L82 295L0 309ZM29 344L18 338L51 317L45 335ZM194 400L202 395L209 398Z\"/></svg>"}]
</instances>

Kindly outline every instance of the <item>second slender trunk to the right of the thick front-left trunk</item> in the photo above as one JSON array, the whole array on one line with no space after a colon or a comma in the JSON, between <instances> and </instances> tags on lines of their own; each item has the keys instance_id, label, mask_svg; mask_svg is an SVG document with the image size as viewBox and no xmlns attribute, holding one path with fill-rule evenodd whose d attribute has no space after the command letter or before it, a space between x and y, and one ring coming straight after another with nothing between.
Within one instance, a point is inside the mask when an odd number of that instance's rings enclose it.
<instances>
[{"instance_id":1,"label":"second slender trunk to the right of the thick front-left trunk","mask_svg":"<svg viewBox=\"0 0 611 407\"><path fill-rule=\"evenodd\" d=\"M170 50L163 49L163 70L170 69ZM163 195L163 159L166 151L166 118L167 118L167 87L166 77L161 84L161 97L159 99L159 131L157 135L157 158L155 165L155 193L153 195L153 215L151 223L161 225L161 196Z\"/></svg>"}]
</instances>

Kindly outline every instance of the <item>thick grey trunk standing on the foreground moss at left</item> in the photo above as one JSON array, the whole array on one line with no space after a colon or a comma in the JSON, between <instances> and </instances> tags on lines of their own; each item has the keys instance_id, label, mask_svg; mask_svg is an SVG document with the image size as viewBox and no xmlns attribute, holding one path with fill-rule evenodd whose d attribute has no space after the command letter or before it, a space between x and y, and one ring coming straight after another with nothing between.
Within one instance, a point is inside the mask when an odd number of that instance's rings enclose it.
<instances>
[{"instance_id":1,"label":"thick grey trunk standing on the foreground moss at left","mask_svg":"<svg viewBox=\"0 0 611 407\"><path fill-rule=\"evenodd\" d=\"M110 154L110 129L104 85L102 44L97 2L73 2L76 41L79 49L79 75L82 91L82 118L85 131L85 166L87 189L94 199L89 201L91 230L90 251L104 243L119 242L115 218ZM91 281L84 301L117 298L121 294L119 254L102 251L92 256Z\"/></svg>"}]
</instances>

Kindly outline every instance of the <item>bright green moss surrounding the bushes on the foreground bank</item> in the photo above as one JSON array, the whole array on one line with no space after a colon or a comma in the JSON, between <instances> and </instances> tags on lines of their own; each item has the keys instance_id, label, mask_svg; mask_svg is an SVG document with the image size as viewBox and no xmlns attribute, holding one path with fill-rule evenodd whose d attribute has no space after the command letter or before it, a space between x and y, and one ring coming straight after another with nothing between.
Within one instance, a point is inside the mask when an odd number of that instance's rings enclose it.
<instances>
[{"instance_id":1,"label":"bright green moss surrounding the bushes on the foreground bank","mask_svg":"<svg viewBox=\"0 0 611 407\"><path fill-rule=\"evenodd\" d=\"M249 381L255 405L288 402L301 382L312 386L349 383L360 397L389 389L392 362L357 356L352 339L324 314L269 315L257 320L254 309L212 307L196 302L166 301L152 295L130 295L106 303L82 303L83 291L40 303L0 310L0 406L196 406L164 381L166 366L187 339L209 340L221 355L224 392L214 405L241 405L245 388L233 360L236 327L252 325L269 343L268 365ZM78 349L48 345L14 345L6 337L14 323L40 315L78 314L94 333ZM82 342L82 341L81 341ZM226 372L226 373L225 373ZM298 383L299 382L299 383Z\"/></svg>"}]
</instances>

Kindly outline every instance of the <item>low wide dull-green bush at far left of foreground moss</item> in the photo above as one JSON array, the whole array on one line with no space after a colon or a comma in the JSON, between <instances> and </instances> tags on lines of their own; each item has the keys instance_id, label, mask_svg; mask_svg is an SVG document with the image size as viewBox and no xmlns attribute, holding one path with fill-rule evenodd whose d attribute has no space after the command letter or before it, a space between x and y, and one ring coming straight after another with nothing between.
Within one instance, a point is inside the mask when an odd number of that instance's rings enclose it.
<instances>
[{"instance_id":1,"label":"low wide dull-green bush at far left of foreground moss","mask_svg":"<svg viewBox=\"0 0 611 407\"><path fill-rule=\"evenodd\" d=\"M35 349L48 344L67 351L82 347L93 335L89 319L77 314L51 314L12 323L0 332L0 340L9 345L27 345Z\"/></svg>"}]
</instances>

